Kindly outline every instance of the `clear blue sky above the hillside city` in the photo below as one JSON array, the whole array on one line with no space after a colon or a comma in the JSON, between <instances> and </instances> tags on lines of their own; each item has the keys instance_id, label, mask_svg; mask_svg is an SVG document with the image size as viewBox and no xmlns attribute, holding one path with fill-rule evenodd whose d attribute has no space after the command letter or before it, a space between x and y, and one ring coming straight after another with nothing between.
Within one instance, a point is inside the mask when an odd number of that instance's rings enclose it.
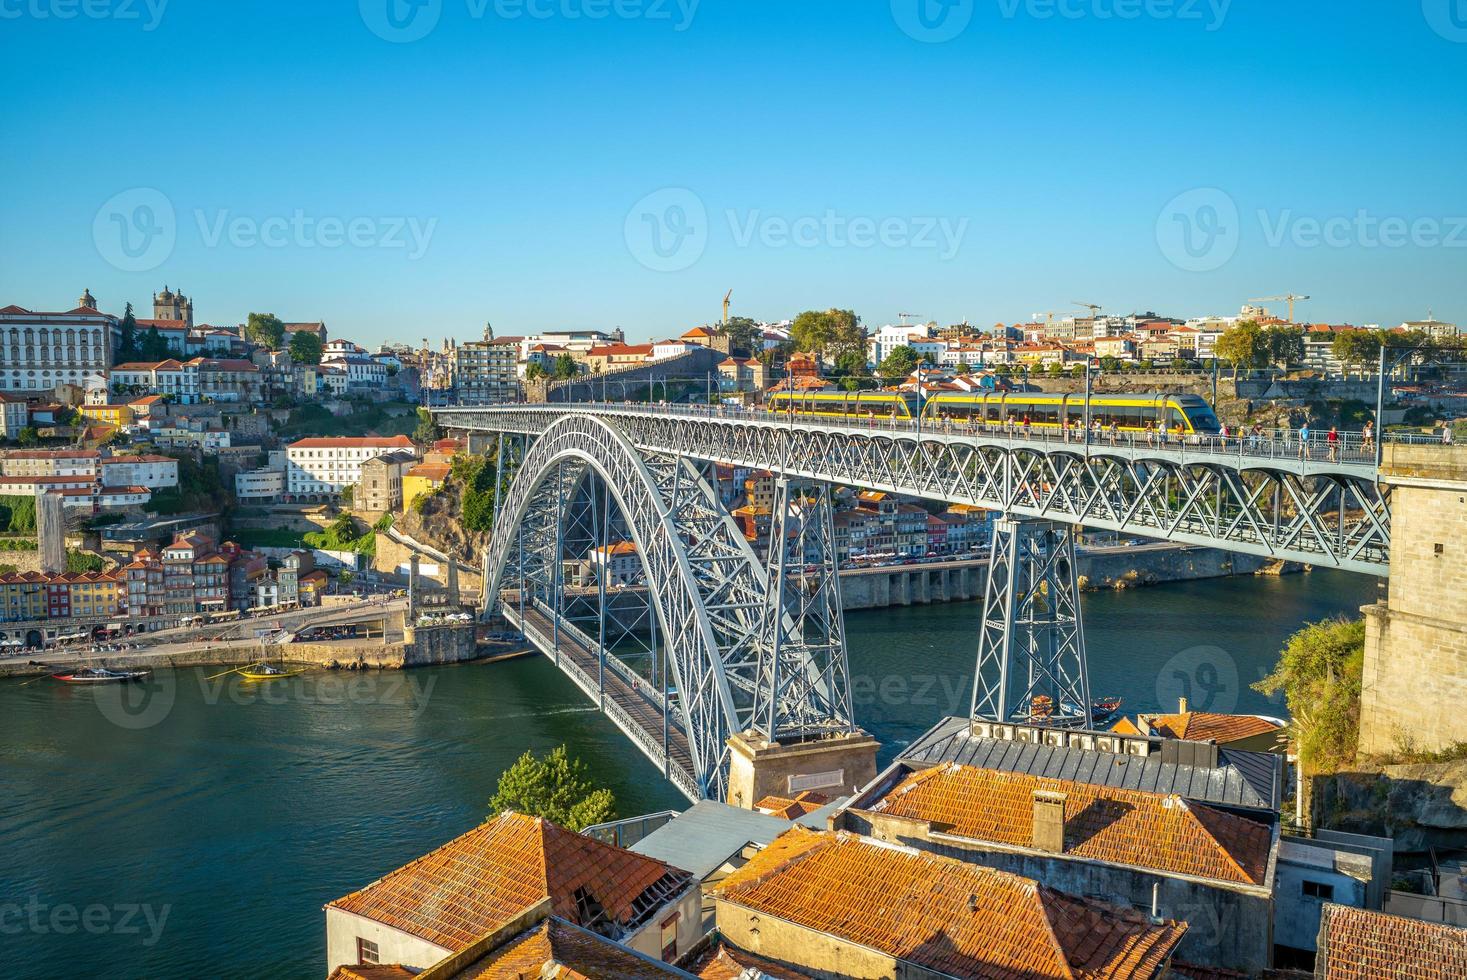
<instances>
[{"instance_id":1,"label":"clear blue sky above the hillside city","mask_svg":"<svg viewBox=\"0 0 1467 980\"><path fill-rule=\"evenodd\" d=\"M148 310L169 283L204 321L371 345L665 336L731 288L870 326L1291 290L1314 320L1467 324L1454 0L88 1L114 16L0 1L0 304ZM402 41L389 3L431 29ZM549 16L506 16L527 4ZM172 236L119 251L160 201Z\"/></svg>"}]
</instances>

